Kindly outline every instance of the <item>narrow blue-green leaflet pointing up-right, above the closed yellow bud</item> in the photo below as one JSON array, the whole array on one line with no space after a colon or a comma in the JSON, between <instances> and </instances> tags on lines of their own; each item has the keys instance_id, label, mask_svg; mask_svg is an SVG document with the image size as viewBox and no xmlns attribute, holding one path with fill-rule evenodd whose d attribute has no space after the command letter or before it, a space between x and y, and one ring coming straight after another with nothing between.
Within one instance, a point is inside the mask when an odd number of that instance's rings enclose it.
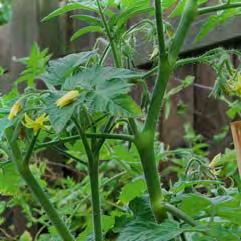
<instances>
[{"instance_id":1,"label":"narrow blue-green leaflet pointing up-right, above the closed yellow bud","mask_svg":"<svg viewBox=\"0 0 241 241\"><path fill-rule=\"evenodd\" d=\"M46 72L42 79L46 85L62 85L76 67L86 63L90 58L96 55L95 51L70 54L64 58L52 60L49 62Z\"/></svg>"}]
</instances>

